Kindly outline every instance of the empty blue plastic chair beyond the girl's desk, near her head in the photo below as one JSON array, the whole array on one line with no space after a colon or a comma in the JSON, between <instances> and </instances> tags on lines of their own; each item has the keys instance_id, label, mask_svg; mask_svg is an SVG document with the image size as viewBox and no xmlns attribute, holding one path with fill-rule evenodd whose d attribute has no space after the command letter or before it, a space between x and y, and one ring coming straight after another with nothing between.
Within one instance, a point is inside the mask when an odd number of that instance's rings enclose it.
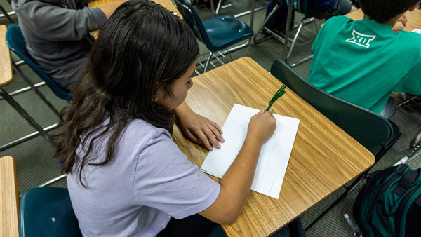
<instances>
[{"instance_id":1,"label":"empty blue plastic chair beyond the girl's desk, near her head","mask_svg":"<svg viewBox=\"0 0 421 237\"><path fill-rule=\"evenodd\" d=\"M175 0L175 4L177 4L178 10L187 24L192 27L199 40L205 43L206 48L210 50L203 72L207 71L210 59L215 52L224 50L234 43L250 39L253 36L253 29L233 15L220 15L202 22L192 5L186 0ZM248 41L242 46L247 45Z\"/></svg>"}]
</instances>

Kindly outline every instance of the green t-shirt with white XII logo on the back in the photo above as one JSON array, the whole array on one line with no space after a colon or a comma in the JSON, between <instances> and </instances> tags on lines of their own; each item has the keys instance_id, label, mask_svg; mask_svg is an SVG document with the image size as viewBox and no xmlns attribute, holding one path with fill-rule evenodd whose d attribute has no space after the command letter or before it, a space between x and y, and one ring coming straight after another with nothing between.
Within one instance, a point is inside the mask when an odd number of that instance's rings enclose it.
<instances>
[{"instance_id":1,"label":"green t-shirt with white XII logo on the back","mask_svg":"<svg viewBox=\"0 0 421 237\"><path fill-rule=\"evenodd\" d=\"M393 92L421 94L421 35L364 18L330 18L312 47L309 82L380 113Z\"/></svg>"}]
</instances>

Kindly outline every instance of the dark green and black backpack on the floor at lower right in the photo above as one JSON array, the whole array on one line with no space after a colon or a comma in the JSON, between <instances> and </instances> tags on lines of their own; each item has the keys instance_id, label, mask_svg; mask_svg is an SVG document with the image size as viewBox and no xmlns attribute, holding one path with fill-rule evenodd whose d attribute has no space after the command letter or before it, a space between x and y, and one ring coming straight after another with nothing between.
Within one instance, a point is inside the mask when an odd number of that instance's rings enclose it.
<instances>
[{"instance_id":1,"label":"dark green and black backpack on the floor at lower right","mask_svg":"<svg viewBox=\"0 0 421 237\"><path fill-rule=\"evenodd\" d=\"M398 165L373 172L354 203L366 236L421 236L421 169Z\"/></svg>"}]
</instances>

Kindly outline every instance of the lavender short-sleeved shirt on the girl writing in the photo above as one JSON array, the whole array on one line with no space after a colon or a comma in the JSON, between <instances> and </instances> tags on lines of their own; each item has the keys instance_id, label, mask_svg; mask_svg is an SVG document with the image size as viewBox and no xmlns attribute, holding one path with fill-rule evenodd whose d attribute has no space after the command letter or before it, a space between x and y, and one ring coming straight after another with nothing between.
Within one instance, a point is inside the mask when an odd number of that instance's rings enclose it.
<instances>
[{"instance_id":1,"label":"lavender short-sleeved shirt on the girl writing","mask_svg":"<svg viewBox=\"0 0 421 237\"><path fill-rule=\"evenodd\" d=\"M104 160L106 142L97 142L91 162ZM82 179L87 189L78 172L67 175L83 236L156 236L170 216L201 212L220 192L220 185L187 160L166 130L142 120L128 124L110 163L86 165Z\"/></svg>"}]
</instances>

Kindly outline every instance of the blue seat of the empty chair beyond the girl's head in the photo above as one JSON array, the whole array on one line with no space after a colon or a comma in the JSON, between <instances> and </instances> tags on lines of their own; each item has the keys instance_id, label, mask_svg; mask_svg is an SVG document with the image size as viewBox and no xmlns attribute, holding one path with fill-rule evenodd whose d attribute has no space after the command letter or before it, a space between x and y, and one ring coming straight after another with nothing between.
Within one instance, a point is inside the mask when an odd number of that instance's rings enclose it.
<instances>
[{"instance_id":1,"label":"blue seat of the empty chair beyond the girl's head","mask_svg":"<svg viewBox=\"0 0 421 237\"><path fill-rule=\"evenodd\" d=\"M233 15L220 15L203 22L210 42L205 42L210 51L220 51L232 44L253 36L253 29Z\"/></svg>"}]
</instances>

